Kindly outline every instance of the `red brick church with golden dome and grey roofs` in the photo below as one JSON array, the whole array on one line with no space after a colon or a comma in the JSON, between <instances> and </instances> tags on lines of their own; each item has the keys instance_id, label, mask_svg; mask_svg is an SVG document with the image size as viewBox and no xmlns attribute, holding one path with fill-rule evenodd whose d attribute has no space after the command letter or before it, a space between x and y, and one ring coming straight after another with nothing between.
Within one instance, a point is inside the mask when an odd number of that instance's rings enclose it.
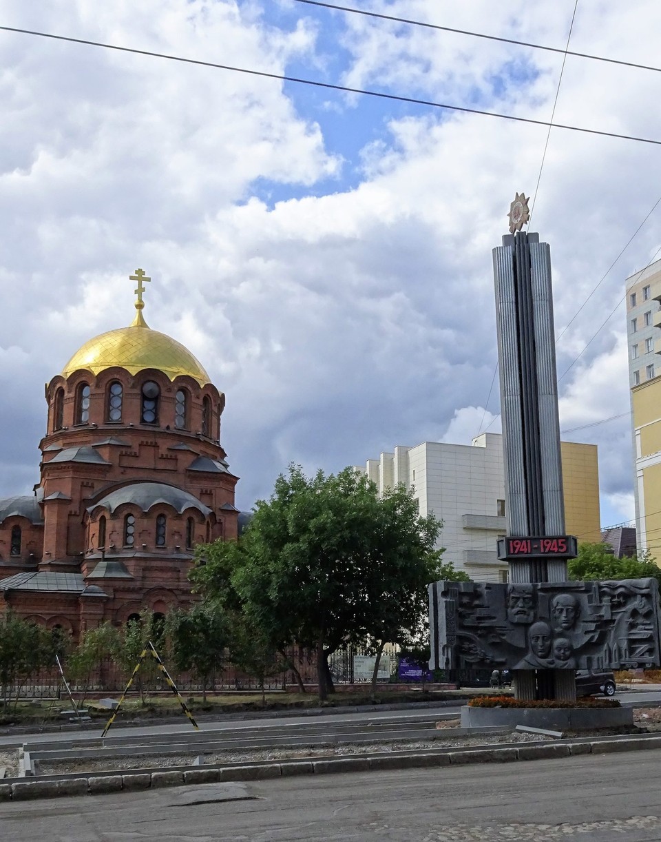
<instances>
[{"instance_id":1,"label":"red brick church with golden dome and grey roofs","mask_svg":"<svg viewBox=\"0 0 661 842\"><path fill-rule=\"evenodd\" d=\"M191 602L193 546L235 538L225 395L142 315L85 343L45 388L34 495L0 499L0 614L78 637Z\"/></svg>"}]
</instances>

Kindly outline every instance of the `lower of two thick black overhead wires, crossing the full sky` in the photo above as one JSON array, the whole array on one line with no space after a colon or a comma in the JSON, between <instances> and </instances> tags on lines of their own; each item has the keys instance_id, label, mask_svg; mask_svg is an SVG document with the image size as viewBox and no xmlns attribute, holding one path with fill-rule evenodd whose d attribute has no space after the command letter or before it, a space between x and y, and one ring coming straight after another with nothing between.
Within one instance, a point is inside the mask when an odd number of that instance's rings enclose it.
<instances>
[{"instance_id":1,"label":"lower of two thick black overhead wires, crossing the full sky","mask_svg":"<svg viewBox=\"0 0 661 842\"><path fill-rule=\"evenodd\" d=\"M21 35L34 35L38 38L50 38L52 40L66 41L70 44L83 44L93 47L101 47L104 50L115 50L119 52L132 53L135 56L150 56L151 58L162 58L167 61L180 61L182 64L193 64L198 67L213 67L216 70L228 70L234 73L245 73L248 76L257 76L267 79L278 79L281 82L291 82L300 85L311 85L315 88L325 88L332 91L341 91L343 93L359 93L362 96L376 97L378 99L388 99L394 102L409 103L414 105L425 105L427 108L436 108L446 111L457 111L463 114L474 114L482 117L497 117L499 120L510 120L515 123L528 123L530 125L551 125L547 120L533 120L531 117L517 117L516 115L500 114L495 111L484 111L482 109L467 108L463 105L450 105L447 103L435 102L431 99L417 99L415 97L400 96L396 93L384 93L383 91L371 91L366 88L349 88L346 85L334 85L330 82L319 82L314 79L304 79L296 76L285 76L283 73L269 73L263 70L251 70L248 67L234 67L229 64L219 64L215 61L202 61L201 59L185 58L184 56L174 56L170 53L158 53L151 50L138 50L135 47L123 47L117 44L105 44L102 41L92 41L86 38L71 38L68 35L53 35L50 32L39 32L35 29L19 29L15 26L0 26L0 30L4 32L16 32ZM636 143L649 143L653 146L661 146L661 140L654 140L651 137L640 137L636 135L621 135L615 131L600 131L599 129L588 129L579 125L566 125L563 123L554 123L553 128L563 129L564 131L577 131L586 135L595 135L600 137L613 137L620 141L634 141Z\"/></svg>"}]
</instances>

